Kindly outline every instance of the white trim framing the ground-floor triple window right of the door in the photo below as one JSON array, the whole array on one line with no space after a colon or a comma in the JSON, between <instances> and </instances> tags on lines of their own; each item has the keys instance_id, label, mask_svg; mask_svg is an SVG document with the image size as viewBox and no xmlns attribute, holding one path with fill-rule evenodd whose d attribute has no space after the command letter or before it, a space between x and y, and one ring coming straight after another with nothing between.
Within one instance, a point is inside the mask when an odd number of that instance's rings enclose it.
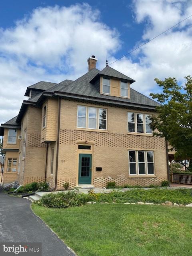
<instances>
[{"instance_id":1,"label":"white trim framing the ground-floor triple window right of the door","mask_svg":"<svg viewBox=\"0 0 192 256\"><path fill-rule=\"evenodd\" d=\"M134 151L135 152L135 159L136 159L136 174L130 174L130 156L129 152ZM145 163L145 174L139 173L139 160L138 160L138 151L144 152L144 161ZM148 162L147 162L147 152L153 152L153 162L149 162L153 164L153 174L148 174ZM129 175L130 176L154 176L155 175L155 164L154 164L154 151L153 150L128 150L128 168L129 168Z\"/></svg>"}]
</instances>

